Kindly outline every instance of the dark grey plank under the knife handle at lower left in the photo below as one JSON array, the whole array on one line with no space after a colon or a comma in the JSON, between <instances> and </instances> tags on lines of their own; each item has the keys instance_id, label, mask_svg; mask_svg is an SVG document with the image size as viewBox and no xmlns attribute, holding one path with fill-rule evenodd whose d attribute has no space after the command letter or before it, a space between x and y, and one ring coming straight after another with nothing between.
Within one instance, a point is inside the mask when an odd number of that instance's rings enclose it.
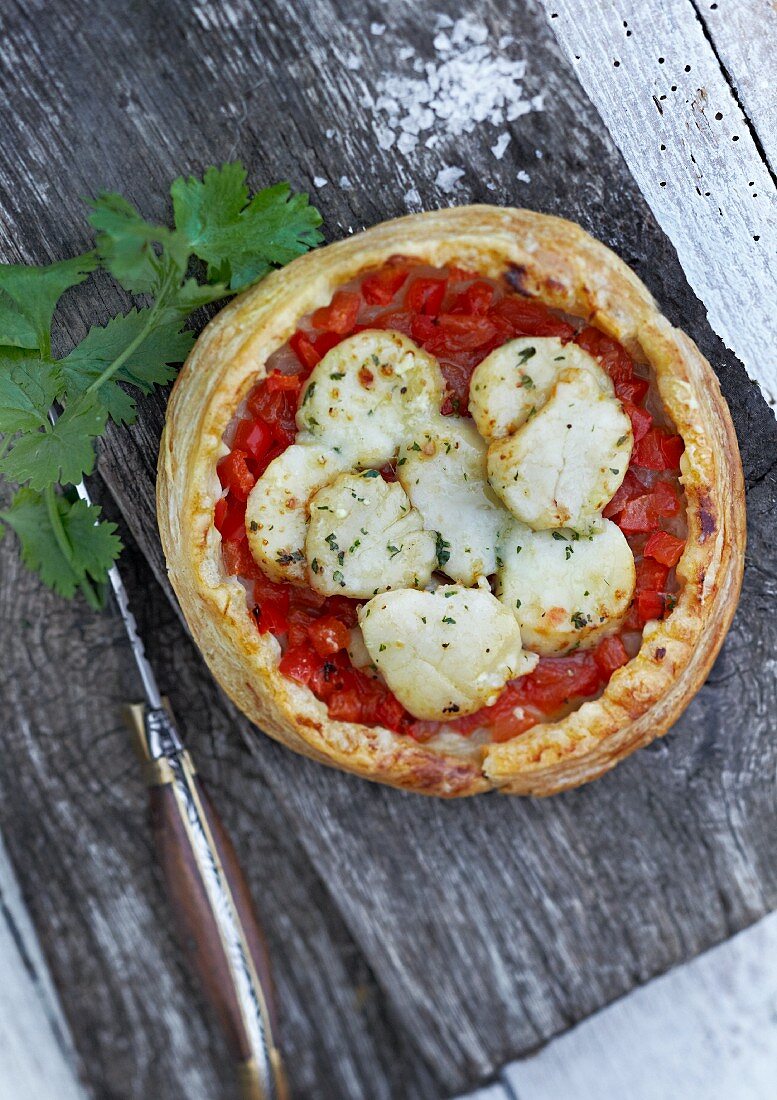
<instances>
[{"instance_id":1,"label":"dark grey plank under the knife handle at lower left","mask_svg":"<svg viewBox=\"0 0 777 1100\"><path fill-rule=\"evenodd\" d=\"M438 1096L136 551L125 553L122 572L263 915L294 1094ZM145 792L120 716L140 685L118 614L89 614L42 593L9 539L0 543L0 575L11 719L0 728L0 831L72 1021L81 1074L99 1098L229 1096L231 1066L154 865ZM3 1028L0 1065L13 1035Z\"/></svg>"}]
</instances>

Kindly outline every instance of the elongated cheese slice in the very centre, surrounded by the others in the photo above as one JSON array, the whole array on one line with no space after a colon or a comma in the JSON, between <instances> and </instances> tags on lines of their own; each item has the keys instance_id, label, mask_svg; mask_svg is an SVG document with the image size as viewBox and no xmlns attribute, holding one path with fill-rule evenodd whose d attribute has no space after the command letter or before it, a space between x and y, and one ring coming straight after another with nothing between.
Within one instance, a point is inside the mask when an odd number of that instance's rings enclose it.
<instances>
[{"instance_id":1,"label":"elongated cheese slice in the very centre, surrounded by the others","mask_svg":"<svg viewBox=\"0 0 777 1100\"><path fill-rule=\"evenodd\" d=\"M400 451L396 473L427 530L440 571L474 584L496 570L496 539L510 516L486 480L485 443L459 417L438 417Z\"/></svg>"}]
</instances>

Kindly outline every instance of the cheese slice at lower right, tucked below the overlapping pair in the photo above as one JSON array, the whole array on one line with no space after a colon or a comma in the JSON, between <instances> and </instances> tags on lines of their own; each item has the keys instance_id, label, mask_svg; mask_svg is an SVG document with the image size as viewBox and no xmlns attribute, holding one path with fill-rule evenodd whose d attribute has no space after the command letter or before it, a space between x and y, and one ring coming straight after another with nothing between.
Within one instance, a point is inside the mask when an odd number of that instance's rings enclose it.
<instances>
[{"instance_id":1,"label":"cheese slice at lower right, tucked below the overlapping pair","mask_svg":"<svg viewBox=\"0 0 777 1100\"><path fill-rule=\"evenodd\" d=\"M634 556L609 519L588 535L516 521L502 537L500 558L496 595L535 653L595 645L619 628L634 595Z\"/></svg>"}]
</instances>

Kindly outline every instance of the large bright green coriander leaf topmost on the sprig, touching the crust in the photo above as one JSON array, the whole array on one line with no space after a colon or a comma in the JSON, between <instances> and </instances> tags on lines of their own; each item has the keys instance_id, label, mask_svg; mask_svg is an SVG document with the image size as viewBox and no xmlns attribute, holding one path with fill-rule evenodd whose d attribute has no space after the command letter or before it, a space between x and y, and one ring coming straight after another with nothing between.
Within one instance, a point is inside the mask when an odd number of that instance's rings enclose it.
<instances>
[{"instance_id":1,"label":"large bright green coriander leaf topmost on the sprig, touching the crust","mask_svg":"<svg viewBox=\"0 0 777 1100\"><path fill-rule=\"evenodd\" d=\"M180 176L171 187L175 226L208 264L208 278L241 290L276 265L321 241L321 216L288 184L266 187L249 201L242 164L210 167L201 180Z\"/></svg>"}]
</instances>

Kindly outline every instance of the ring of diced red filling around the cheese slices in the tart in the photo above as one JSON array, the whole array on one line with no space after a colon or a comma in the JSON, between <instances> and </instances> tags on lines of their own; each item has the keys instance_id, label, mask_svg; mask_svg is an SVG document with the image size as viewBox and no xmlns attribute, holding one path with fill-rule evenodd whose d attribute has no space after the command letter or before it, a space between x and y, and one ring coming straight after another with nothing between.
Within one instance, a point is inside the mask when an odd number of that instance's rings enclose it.
<instances>
[{"instance_id":1,"label":"ring of diced red filling around the cheese slices in the tart","mask_svg":"<svg viewBox=\"0 0 777 1100\"><path fill-rule=\"evenodd\" d=\"M574 340L597 359L612 378L634 433L630 469L604 508L635 553L636 590L625 631L641 630L649 619L668 614L676 600L674 568L685 540L665 530L663 522L682 507L678 472L683 443L654 421L645 407L649 380L635 372L616 340L591 326L576 332L541 302L472 272L451 267L428 274L428 268L414 268L413 261L397 256L365 273L348 289L336 292L329 305L315 310L289 338L282 370L271 371L251 391L230 452L218 463L225 495L215 505L214 525L222 539L225 571L251 582L249 603L256 629L281 638L281 672L308 686L333 719L386 726L426 741L444 724L414 718L380 679L351 664L348 646L359 601L271 581L254 562L245 537L245 501L256 479L294 441L305 380L324 355L368 328L402 332L438 360L447 385L442 413L461 416L467 415L474 367L507 340ZM381 474L396 480L391 463ZM598 694L628 659L621 634L603 638L592 650L540 658L532 673L507 684L493 706L449 722L446 728L462 736L486 729L493 741L510 740Z\"/></svg>"}]
</instances>

